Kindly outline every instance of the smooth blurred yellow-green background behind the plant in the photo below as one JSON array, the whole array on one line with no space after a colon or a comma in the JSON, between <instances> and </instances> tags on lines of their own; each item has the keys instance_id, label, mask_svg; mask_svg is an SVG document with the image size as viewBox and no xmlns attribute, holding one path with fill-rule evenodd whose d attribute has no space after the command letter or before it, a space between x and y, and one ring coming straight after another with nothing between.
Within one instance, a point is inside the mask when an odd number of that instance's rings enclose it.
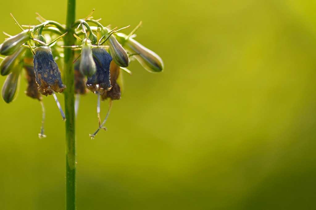
<instances>
[{"instance_id":1,"label":"smooth blurred yellow-green background behind the plant","mask_svg":"<svg viewBox=\"0 0 316 210\"><path fill-rule=\"evenodd\" d=\"M9 34L19 32L9 13L65 22L61 0L0 6ZM104 25L143 20L136 40L165 69L133 62L94 140L97 97L81 98L78 210L316 209L315 1L79 0L77 18L93 8ZM17 99L0 101L0 209L64 209L64 122L45 97L38 139L40 104L25 89L23 76Z\"/></svg>"}]
</instances>

